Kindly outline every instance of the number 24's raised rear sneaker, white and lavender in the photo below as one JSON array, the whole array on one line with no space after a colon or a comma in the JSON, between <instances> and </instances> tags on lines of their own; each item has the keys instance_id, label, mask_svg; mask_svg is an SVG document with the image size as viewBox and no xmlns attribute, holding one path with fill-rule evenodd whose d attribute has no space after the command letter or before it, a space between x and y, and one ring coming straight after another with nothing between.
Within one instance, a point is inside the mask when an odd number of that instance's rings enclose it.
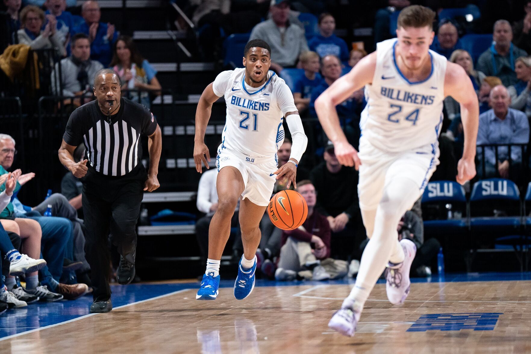
<instances>
[{"instance_id":1,"label":"number 24's raised rear sneaker, white and lavender","mask_svg":"<svg viewBox=\"0 0 531 354\"><path fill-rule=\"evenodd\" d=\"M400 264L389 264L386 268L386 291L389 302L393 305L402 304L409 295L409 269L415 258L417 246L413 241L404 239L400 241L400 246L404 249L404 262Z\"/></svg>"}]
</instances>

